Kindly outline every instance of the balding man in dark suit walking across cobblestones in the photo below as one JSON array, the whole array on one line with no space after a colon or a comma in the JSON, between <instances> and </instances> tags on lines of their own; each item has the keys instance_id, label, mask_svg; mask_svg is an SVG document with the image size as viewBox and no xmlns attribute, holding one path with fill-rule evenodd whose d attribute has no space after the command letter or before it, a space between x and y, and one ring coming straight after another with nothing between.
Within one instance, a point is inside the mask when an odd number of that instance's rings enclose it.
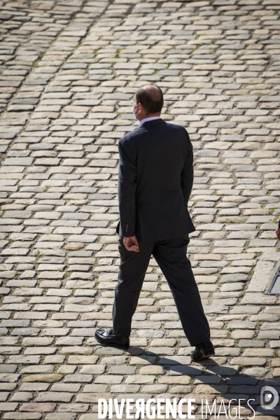
<instances>
[{"instance_id":1,"label":"balding man in dark suit walking across cobblestones","mask_svg":"<svg viewBox=\"0 0 280 420\"><path fill-rule=\"evenodd\" d=\"M140 125L118 142L120 273L113 305L113 328L97 330L105 346L127 349L148 263L155 258L169 283L183 330L195 346L195 361L214 355L190 261L188 234L195 230L188 213L193 188L193 147L188 132L160 118L159 87L137 90L133 113Z\"/></svg>"}]
</instances>

